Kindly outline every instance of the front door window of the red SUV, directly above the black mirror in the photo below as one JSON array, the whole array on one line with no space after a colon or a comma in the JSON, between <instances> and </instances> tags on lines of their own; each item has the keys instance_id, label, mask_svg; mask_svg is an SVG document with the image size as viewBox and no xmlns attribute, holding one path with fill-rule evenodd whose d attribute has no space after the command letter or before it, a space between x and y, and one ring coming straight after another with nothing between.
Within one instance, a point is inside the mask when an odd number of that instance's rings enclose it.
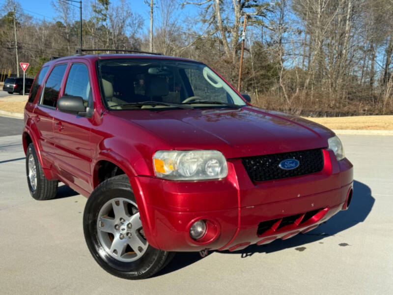
<instances>
[{"instance_id":1,"label":"front door window of the red SUV, directly above the black mirror","mask_svg":"<svg viewBox=\"0 0 393 295\"><path fill-rule=\"evenodd\" d=\"M88 106L88 101L92 100L92 96L86 65L74 63L71 66L64 95L81 96L84 100L84 106Z\"/></svg>"}]
</instances>

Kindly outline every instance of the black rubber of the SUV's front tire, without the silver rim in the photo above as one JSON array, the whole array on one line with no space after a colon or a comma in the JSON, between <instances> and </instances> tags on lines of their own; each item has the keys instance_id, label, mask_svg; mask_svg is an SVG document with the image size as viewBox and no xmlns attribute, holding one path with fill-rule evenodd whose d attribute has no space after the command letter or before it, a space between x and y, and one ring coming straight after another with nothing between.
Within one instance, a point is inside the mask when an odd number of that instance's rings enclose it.
<instances>
[{"instance_id":1,"label":"black rubber of the SUV's front tire, without the silver rim","mask_svg":"<svg viewBox=\"0 0 393 295\"><path fill-rule=\"evenodd\" d=\"M97 222L101 208L116 198L127 199L136 204L129 178L126 175L103 181L87 199L83 216L84 238L87 247L95 261L112 275L129 280L148 278L166 266L173 258L173 253L148 245L145 252L135 261L123 262L112 257L100 242ZM114 217L113 220L116 218Z\"/></svg>"}]
</instances>

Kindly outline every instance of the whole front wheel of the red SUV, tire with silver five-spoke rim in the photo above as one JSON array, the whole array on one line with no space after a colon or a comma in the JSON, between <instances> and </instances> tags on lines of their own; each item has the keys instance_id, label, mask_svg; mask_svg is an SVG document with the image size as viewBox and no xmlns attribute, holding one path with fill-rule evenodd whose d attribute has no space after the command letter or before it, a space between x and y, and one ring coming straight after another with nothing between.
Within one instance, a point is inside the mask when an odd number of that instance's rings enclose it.
<instances>
[{"instance_id":1,"label":"whole front wheel of the red SUV, tire with silver five-spoke rim","mask_svg":"<svg viewBox=\"0 0 393 295\"><path fill-rule=\"evenodd\" d=\"M153 248L145 239L126 175L103 181L91 193L84 208L83 227L95 261L117 277L148 278L173 258L172 252Z\"/></svg>"}]
</instances>

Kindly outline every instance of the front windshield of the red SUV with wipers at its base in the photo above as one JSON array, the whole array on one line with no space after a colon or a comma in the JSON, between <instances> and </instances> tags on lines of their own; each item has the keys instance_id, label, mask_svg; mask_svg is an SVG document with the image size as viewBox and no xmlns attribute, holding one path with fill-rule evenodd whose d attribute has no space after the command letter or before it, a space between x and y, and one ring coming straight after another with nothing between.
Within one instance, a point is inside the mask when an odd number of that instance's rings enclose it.
<instances>
[{"instance_id":1,"label":"front windshield of the red SUV with wipers at its base","mask_svg":"<svg viewBox=\"0 0 393 295\"><path fill-rule=\"evenodd\" d=\"M194 108L246 105L217 74L197 62L103 59L98 61L98 69L109 109L154 109L180 104Z\"/></svg>"}]
</instances>

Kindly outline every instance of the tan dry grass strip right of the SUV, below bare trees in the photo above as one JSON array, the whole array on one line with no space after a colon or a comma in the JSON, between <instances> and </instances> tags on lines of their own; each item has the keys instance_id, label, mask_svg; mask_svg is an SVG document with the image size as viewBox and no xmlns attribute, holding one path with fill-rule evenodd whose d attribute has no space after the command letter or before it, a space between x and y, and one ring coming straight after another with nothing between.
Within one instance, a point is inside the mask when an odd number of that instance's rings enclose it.
<instances>
[{"instance_id":1,"label":"tan dry grass strip right of the SUV, below bare trees","mask_svg":"<svg viewBox=\"0 0 393 295\"><path fill-rule=\"evenodd\" d=\"M393 130L393 116L307 118L330 129Z\"/></svg>"}]
</instances>

